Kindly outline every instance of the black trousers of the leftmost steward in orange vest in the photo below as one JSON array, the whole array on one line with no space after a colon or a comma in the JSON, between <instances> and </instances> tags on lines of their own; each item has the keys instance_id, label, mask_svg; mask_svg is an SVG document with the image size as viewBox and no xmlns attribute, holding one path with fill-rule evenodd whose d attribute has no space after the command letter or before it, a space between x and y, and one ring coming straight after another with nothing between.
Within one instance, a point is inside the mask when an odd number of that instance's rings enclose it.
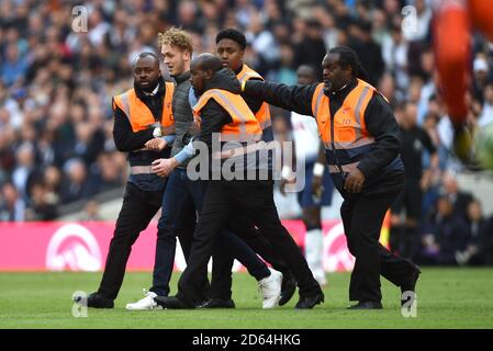
<instances>
[{"instance_id":1,"label":"black trousers of the leftmost steward in orange vest","mask_svg":"<svg viewBox=\"0 0 493 351\"><path fill-rule=\"evenodd\" d=\"M132 245L161 207L163 194L164 190L143 191L132 183L126 183L122 210L116 219L98 293L108 298L116 298L123 283Z\"/></svg>"}]
</instances>

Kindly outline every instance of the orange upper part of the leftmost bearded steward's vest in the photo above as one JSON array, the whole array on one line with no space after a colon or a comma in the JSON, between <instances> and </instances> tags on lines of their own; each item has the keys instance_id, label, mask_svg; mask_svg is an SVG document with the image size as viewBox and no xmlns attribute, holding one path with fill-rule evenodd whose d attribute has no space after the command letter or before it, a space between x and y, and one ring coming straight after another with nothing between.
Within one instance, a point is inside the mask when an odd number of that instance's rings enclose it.
<instances>
[{"instance_id":1,"label":"orange upper part of the leftmost bearded steward's vest","mask_svg":"<svg viewBox=\"0 0 493 351\"><path fill-rule=\"evenodd\" d=\"M150 127L164 126L168 127L173 124L171 100L175 92L175 84L172 82L166 83L165 101L163 102L163 115L159 123L156 123L149 107L137 98L134 89L127 90L123 94L116 95L113 99L114 104L125 112L128 122L132 125L132 131L138 132Z\"/></svg>"}]
</instances>

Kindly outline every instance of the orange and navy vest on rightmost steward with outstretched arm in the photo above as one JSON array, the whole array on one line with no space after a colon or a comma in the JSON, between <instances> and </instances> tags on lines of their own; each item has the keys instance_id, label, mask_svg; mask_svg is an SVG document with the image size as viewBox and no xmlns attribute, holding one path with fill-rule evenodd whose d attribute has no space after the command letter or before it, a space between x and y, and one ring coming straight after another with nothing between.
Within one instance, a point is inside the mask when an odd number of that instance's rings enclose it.
<instances>
[{"instance_id":1,"label":"orange and navy vest on rightmost steward with outstretched arm","mask_svg":"<svg viewBox=\"0 0 493 351\"><path fill-rule=\"evenodd\" d=\"M376 91L376 88L358 79L356 88L349 92L336 114L330 116L329 98L324 94L324 84L316 87L312 114L318 125L330 172L352 171L361 156L372 148L374 138L367 131L365 111Z\"/></svg>"}]
</instances>

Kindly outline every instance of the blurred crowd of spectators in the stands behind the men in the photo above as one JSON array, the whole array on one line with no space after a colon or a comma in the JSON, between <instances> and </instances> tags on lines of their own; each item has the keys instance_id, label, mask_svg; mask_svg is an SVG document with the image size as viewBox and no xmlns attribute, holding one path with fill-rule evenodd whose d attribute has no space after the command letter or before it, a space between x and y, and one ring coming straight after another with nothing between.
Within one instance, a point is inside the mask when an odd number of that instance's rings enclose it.
<instances>
[{"instance_id":1,"label":"blurred crowd of spectators in the stands behind the men","mask_svg":"<svg viewBox=\"0 0 493 351\"><path fill-rule=\"evenodd\" d=\"M0 220L54 219L77 201L97 219L94 196L126 181L125 155L112 139L111 98L132 87L135 55L159 53L157 33L172 25L192 34L195 55L214 53L215 34L237 27L248 41L246 61L288 84L300 65L320 67L328 48L351 46L403 133L419 129L433 145L403 144L403 155L419 155L404 160L422 194L419 240L412 244L418 248L410 254L442 264L473 262L480 253L480 261L493 261L486 254L493 220L457 185L460 166L450 154L452 131L435 72L432 0L92 0L82 1L88 29L81 33L72 29L78 4L0 1ZM405 5L416 11L413 31L403 31ZM469 120L482 126L493 121L493 45L473 35ZM273 110L273 125L287 137L289 113ZM396 227L404 217L394 216Z\"/></svg>"}]
</instances>

